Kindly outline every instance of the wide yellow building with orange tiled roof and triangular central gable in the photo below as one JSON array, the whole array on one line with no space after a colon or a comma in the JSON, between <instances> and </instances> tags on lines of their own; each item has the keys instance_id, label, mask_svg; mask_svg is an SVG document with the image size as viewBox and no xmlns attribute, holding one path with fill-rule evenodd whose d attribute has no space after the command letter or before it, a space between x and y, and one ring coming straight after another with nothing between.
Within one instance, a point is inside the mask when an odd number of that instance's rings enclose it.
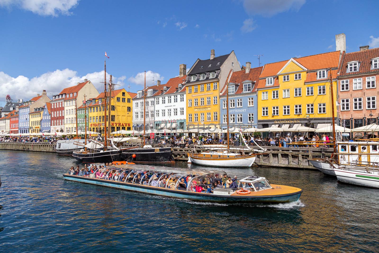
<instances>
[{"instance_id":1,"label":"wide yellow building with orange tiled roof and triangular central gable","mask_svg":"<svg viewBox=\"0 0 379 253\"><path fill-rule=\"evenodd\" d=\"M336 98L339 61L340 51L336 51L265 64L257 87L258 128L329 125L330 74Z\"/></svg>"}]
</instances>

